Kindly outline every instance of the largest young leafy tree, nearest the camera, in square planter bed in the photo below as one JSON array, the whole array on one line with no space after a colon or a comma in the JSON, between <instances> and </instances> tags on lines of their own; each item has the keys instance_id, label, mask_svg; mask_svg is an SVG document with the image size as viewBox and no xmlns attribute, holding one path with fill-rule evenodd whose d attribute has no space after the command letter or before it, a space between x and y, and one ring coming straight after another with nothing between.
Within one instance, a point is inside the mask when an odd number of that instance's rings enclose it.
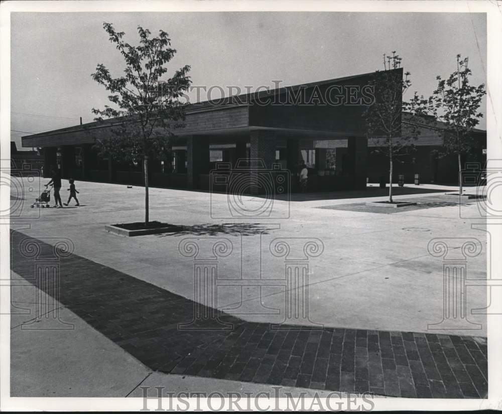
<instances>
[{"instance_id":1,"label":"largest young leafy tree, nearest the camera, in square planter bed","mask_svg":"<svg viewBox=\"0 0 502 414\"><path fill-rule=\"evenodd\" d=\"M166 64L176 54L171 39L163 30L151 37L148 29L138 26L140 44L131 46L122 40L110 23L103 23L109 40L122 55L126 64L124 75L114 78L103 64L98 64L92 78L110 91L108 99L114 105L92 109L96 121L109 122L111 136L96 137L100 154L114 160L141 162L145 176L145 226L149 223L148 161L162 160L169 153L169 137L173 129L183 127L185 103L181 101L191 80L190 66L184 66L164 79ZM104 119L105 118L105 119ZM116 122L115 122L116 120Z\"/></svg>"}]
</instances>

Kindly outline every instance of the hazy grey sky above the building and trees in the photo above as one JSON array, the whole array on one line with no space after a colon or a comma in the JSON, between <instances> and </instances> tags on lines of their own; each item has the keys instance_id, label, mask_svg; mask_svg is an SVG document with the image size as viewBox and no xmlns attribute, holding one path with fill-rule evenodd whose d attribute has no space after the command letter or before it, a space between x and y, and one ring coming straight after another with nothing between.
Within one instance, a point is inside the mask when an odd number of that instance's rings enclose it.
<instances>
[{"instance_id":1,"label":"hazy grey sky above the building and trees","mask_svg":"<svg viewBox=\"0 0 502 414\"><path fill-rule=\"evenodd\" d=\"M98 63L112 76L123 58L103 22L138 43L137 27L169 34L177 54L167 75L190 65L193 85L274 87L384 69L396 51L411 72L414 91L429 96L436 76L469 57L471 83L486 82L486 16L459 13L221 12L221 13L13 13L11 15L11 140L90 122L108 93L92 78ZM213 88L211 97L218 98ZM234 89L235 90L235 89ZM202 94L200 100L207 96ZM191 101L197 100L195 91ZM485 113L483 99L481 112ZM481 119L479 128L486 128Z\"/></svg>"}]
</instances>

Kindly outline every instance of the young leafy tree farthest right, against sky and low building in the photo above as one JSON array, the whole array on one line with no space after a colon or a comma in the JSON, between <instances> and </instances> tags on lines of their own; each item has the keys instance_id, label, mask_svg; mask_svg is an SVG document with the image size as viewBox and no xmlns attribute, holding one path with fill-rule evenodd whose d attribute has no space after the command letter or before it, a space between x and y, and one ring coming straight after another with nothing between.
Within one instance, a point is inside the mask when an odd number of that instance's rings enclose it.
<instances>
[{"instance_id":1,"label":"young leafy tree farthest right, against sky and low building","mask_svg":"<svg viewBox=\"0 0 502 414\"><path fill-rule=\"evenodd\" d=\"M448 79L437 76L437 89L429 98L429 110L444 123L438 128L443 139L442 155L454 154L458 161L458 190L462 194L462 157L470 154L475 148L472 128L483 116L479 112L481 99L485 94L484 84L469 84L471 70L468 68L469 58L461 59L457 55L457 70Z\"/></svg>"}]
</instances>

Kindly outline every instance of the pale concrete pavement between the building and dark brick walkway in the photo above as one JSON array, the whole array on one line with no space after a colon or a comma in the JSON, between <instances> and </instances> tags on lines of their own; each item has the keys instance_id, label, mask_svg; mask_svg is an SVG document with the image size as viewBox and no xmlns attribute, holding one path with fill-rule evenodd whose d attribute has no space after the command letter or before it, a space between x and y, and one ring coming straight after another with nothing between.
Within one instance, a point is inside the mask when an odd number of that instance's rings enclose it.
<instances>
[{"instance_id":1,"label":"pale concrete pavement between the building and dark brick walkway","mask_svg":"<svg viewBox=\"0 0 502 414\"><path fill-rule=\"evenodd\" d=\"M442 260L428 253L428 242L437 237L474 237L486 247L485 233L471 229L471 224L480 220L460 218L458 206L391 215L315 208L363 202L360 192L348 199L275 201L275 218L243 219L211 217L211 208L213 212L227 210L224 194L209 197L201 192L151 189L151 219L183 225L186 230L174 235L125 238L104 231L104 225L141 221L144 189L77 184L82 207L40 211L25 208L27 215L41 213L25 233L54 240L70 238L75 253L189 299L194 299L193 258L179 252L178 244L184 237L197 237L201 249L210 249L214 237L231 241L231 254L218 260L221 279L256 279L260 275L264 279L284 278L278 276L284 274L284 259L270 253L271 241L285 238L291 246L301 248L300 238L319 238L324 252L309 261L309 312L312 321L326 326L426 332L427 325L439 322L443 313ZM416 191L411 188L396 199L409 198L409 192ZM256 197L243 198L252 205L263 202ZM476 203L465 209L472 217L478 214ZM484 279L485 261L485 249L469 258L468 277ZM217 307L228 310L238 306L242 298L256 302L257 296L256 289L218 289ZM262 290L262 299L266 307L281 308L284 290ZM485 303L485 288L469 288L468 309L483 308ZM284 316L270 312L263 315L253 306L261 309L259 304L249 305L247 314L239 316L256 322L281 322ZM476 335L485 335L484 316L472 315L470 319L483 325Z\"/></svg>"}]
</instances>

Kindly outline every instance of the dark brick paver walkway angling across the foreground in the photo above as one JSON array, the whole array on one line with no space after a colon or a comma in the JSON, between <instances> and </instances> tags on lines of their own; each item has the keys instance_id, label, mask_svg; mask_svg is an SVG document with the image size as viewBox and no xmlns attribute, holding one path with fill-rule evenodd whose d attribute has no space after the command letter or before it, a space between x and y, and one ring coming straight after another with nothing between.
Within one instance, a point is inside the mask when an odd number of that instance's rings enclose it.
<instances>
[{"instance_id":1,"label":"dark brick paver walkway angling across the foreground","mask_svg":"<svg viewBox=\"0 0 502 414\"><path fill-rule=\"evenodd\" d=\"M53 246L11 232L12 270L30 281ZM169 269L166 269L168 272ZM39 286L48 292L45 286ZM477 338L355 329L271 329L218 311L229 330L180 330L194 302L71 254L60 261L59 302L153 370L267 384L419 397L485 397L486 342ZM211 311L210 309L206 309ZM204 324L200 328L204 328Z\"/></svg>"}]
</instances>

